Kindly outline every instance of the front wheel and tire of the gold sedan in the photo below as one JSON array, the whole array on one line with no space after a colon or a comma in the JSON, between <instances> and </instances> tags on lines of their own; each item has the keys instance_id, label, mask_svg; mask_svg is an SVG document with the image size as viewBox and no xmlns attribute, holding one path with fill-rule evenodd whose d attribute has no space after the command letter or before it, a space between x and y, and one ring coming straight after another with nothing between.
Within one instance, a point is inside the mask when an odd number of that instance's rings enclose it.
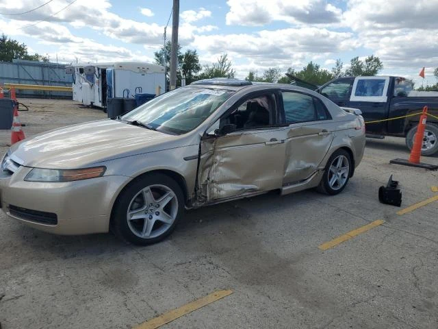
<instances>
[{"instance_id":1,"label":"front wheel and tire of the gold sedan","mask_svg":"<svg viewBox=\"0 0 438 329\"><path fill-rule=\"evenodd\" d=\"M112 231L135 245L157 243L172 233L183 211L179 184L162 173L146 174L118 196Z\"/></svg>"}]
</instances>

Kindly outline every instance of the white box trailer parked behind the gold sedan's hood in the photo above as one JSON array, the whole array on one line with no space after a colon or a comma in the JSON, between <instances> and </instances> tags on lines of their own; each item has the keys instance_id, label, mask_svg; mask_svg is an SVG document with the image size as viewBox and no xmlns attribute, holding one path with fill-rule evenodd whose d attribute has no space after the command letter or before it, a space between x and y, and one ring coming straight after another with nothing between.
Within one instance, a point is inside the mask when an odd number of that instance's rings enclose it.
<instances>
[{"instance_id":1,"label":"white box trailer parked behind the gold sedan's hood","mask_svg":"<svg viewBox=\"0 0 438 329\"><path fill-rule=\"evenodd\" d=\"M164 66L144 62L73 64L73 100L84 106L106 108L107 98L164 93Z\"/></svg>"}]
</instances>

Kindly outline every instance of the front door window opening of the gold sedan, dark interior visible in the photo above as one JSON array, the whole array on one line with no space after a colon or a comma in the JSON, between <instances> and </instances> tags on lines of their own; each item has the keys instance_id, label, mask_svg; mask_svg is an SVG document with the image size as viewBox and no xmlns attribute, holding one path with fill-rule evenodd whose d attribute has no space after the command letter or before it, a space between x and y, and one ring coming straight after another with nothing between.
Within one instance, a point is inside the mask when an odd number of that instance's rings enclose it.
<instances>
[{"instance_id":1,"label":"front door window opening of the gold sedan, dark interior visible","mask_svg":"<svg viewBox=\"0 0 438 329\"><path fill-rule=\"evenodd\" d=\"M237 108L220 119L220 127L236 125L237 130L269 127L276 124L276 103L274 94L246 99Z\"/></svg>"}]
</instances>

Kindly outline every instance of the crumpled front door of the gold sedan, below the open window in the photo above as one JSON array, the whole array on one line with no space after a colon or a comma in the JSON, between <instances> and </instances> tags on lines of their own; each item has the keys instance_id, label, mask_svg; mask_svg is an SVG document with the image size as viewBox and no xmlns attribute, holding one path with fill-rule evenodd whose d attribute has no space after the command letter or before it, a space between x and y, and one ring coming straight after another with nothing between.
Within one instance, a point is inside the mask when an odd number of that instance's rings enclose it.
<instances>
[{"instance_id":1,"label":"crumpled front door of the gold sedan, below the open window","mask_svg":"<svg viewBox=\"0 0 438 329\"><path fill-rule=\"evenodd\" d=\"M284 127L233 132L201 142L198 199L220 199L281 188Z\"/></svg>"}]
</instances>

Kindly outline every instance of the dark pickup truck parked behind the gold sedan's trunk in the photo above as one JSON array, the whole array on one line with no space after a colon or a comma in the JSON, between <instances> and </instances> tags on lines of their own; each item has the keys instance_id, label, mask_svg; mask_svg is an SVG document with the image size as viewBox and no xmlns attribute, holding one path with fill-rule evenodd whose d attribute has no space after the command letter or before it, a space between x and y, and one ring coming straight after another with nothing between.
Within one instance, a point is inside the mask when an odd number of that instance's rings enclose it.
<instances>
[{"instance_id":1,"label":"dark pickup truck parked behind the gold sedan's trunk","mask_svg":"<svg viewBox=\"0 0 438 329\"><path fill-rule=\"evenodd\" d=\"M339 77L315 91L342 107L359 108L366 121L378 121L407 114L428 112L438 117L438 91L413 90L413 83L403 77ZM417 130L420 115L368 123L367 134L373 137L398 136L406 138L409 149ZM438 119L428 116L424 132L422 155L438 153Z\"/></svg>"}]
</instances>

